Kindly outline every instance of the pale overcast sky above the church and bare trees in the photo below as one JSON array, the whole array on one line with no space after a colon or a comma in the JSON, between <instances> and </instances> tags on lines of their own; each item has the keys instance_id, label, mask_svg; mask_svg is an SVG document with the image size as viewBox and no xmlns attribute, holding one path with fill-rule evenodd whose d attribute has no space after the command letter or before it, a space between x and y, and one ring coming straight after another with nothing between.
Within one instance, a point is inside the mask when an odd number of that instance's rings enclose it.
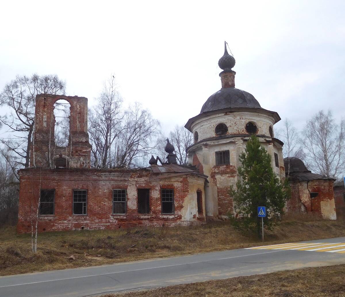
<instances>
[{"instance_id":1,"label":"pale overcast sky above the church and bare trees","mask_svg":"<svg viewBox=\"0 0 345 297\"><path fill-rule=\"evenodd\" d=\"M90 106L115 73L125 104L141 102L168 131L220 89L226 40L236 87L263 108L299 129L320 109L345 117L344 0L6 1L0 11L1 89L17 74L57 74Z\"/></svg>"}]
</instances>

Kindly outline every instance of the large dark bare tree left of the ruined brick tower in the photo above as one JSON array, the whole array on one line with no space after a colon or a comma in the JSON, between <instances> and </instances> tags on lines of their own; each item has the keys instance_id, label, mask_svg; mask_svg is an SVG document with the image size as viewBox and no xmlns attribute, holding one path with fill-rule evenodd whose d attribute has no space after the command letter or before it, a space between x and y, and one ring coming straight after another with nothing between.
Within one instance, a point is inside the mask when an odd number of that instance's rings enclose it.
<instances>
[{"instance_id":1,"label":"large dark bare tree left of the ruined brick tower","mask_svg":"<svg viewBox=\"0 0 345 297\"><path fill-rule=\"evenodd\" d=\"M1 142L11 149L15 156L14 165L29 167L29 151L34 130L34 112L37 94L65 94L66 83L57 75L17 76L7 83L0 94L0 105L9 112L0 116L0 122L7 127L11 137Z\"/></svg>"}]
</instances>

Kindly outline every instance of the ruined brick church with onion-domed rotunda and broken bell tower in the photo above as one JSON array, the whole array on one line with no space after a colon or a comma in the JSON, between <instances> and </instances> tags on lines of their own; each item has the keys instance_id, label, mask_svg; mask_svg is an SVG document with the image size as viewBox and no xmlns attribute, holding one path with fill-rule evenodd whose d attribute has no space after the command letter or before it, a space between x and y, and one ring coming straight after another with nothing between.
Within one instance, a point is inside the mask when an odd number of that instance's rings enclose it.
<instances>
[{"instance_id":1,"label":"ruined brick church with onion-domed rotunda and broken bell tower","mask_svg":"<svg viewBox=\"0 0 345 297\"><path fill-rule=\"evenodd\" d=\"M90 168L87 98L38 95L30 167L18 171L18 232L31 232L33 205L38 205L39 232L226 218L236 211L229 188L237 182L239 155L251 134L271 155L274 172L285 178L283 142L274 137L273 128L280 120L278 113L235 88L235 59L226 47L218 65L223 70L221 89L185 126L194 136L185 166L176 163L174 147L168 142L167 161L160 164L152 157L147 168ZM54 103L61 99L70 103L66 147L58 147L54 137Z\"/></svg>"}]
</instances>

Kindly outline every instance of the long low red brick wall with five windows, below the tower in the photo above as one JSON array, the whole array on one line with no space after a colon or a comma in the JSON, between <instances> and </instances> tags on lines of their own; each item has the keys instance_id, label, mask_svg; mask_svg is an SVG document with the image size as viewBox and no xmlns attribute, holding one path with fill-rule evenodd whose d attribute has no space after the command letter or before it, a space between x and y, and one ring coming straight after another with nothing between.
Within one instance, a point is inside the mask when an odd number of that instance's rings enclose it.
<instances>
[{"instance_id":1,"label":"long low red brick wall with five windows, below the tower","mask_svg":"<svg viewBox=\"0 0 345 297\"><path fill-rule=\"evenodd\" d=\"M114 229L137 225L174 225L183 221L182 209L189 194L189 176L151 179L145 170L22 169L20 174L18 233L31 231L31 203L41 189L55 189L55 214L40 216L39 232L81 229ZM41 179L41 181L40 181ZM112 189L127 189L126 215L112 214ZM138 214L137 189L150 189L150 213ZM161 214L161 188L174 189L175 214ZM87 215L72 215L72 189L87 189ZM195 195L196 196L196 195ZM196 199L196 198L195 198ZM196 203L196 202L195 202ZM197 217L195 221L200 220ZM45 229L45 230L43 230Z\"/></svg>"}]
</instances>

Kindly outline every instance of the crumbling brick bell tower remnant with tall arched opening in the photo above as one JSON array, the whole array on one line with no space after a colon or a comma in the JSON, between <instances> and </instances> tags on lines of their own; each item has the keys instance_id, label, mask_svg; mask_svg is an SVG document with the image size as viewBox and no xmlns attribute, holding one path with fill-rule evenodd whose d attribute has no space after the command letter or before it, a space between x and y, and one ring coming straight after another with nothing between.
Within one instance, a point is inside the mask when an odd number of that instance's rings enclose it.
<instances>
[{"instance_id":1,"label":"crumbling brick bell tower remnant with tall arched opening","mask_svg":"<svg viewBox=\"0 0 345 297\"><path fill-rule=\"evenodd\" d=\"M54 103L70 103L70 137L66 147L55 146ZM36 96L34 146L30 147L30 166L50 167L57 157L70 167L90 168L91 145L87 133L87 98L41 94Z\"/></svg>"}]
</instances>

